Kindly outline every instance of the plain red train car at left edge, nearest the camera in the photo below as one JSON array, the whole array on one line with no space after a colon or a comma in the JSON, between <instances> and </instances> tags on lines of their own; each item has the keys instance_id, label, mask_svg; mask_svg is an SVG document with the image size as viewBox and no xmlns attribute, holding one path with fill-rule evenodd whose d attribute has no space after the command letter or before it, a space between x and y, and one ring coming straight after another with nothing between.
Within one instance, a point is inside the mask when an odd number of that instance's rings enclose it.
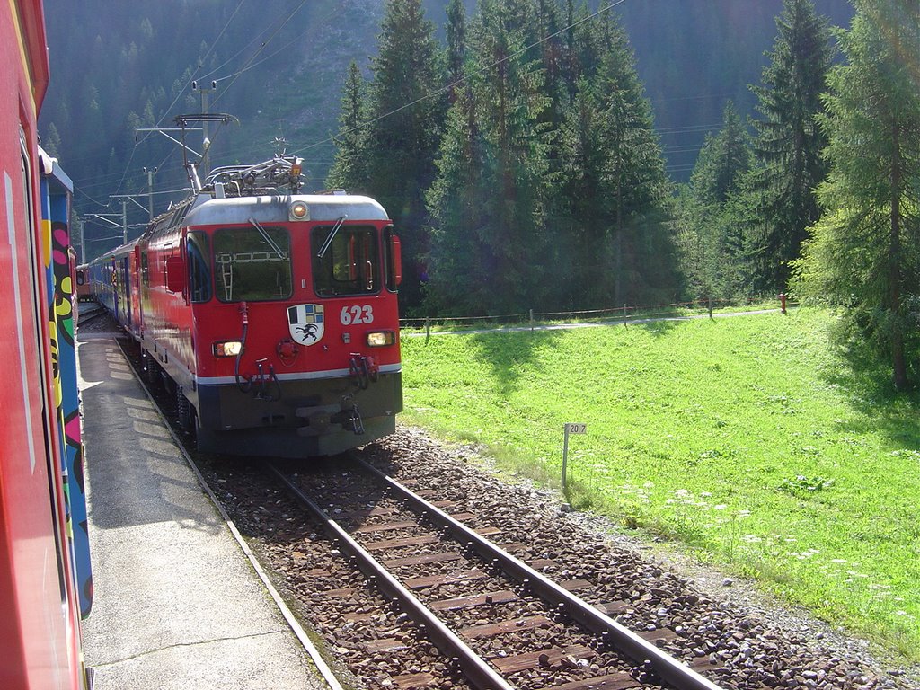
<instances>
[{"instance_id":1,"label":"plain red train car at left edge, nearest the camera","mask_svg":"<svg viewBox=\"0 0 920 690\"><path fill-rule=\"evenodd\" d=\"M0 687L84 688L52 366L50 224L40 216L36 117L49 76L40 0L0 6L0 55L0 360L9 365L0 416Z\"/></svg>"}]
</instances>

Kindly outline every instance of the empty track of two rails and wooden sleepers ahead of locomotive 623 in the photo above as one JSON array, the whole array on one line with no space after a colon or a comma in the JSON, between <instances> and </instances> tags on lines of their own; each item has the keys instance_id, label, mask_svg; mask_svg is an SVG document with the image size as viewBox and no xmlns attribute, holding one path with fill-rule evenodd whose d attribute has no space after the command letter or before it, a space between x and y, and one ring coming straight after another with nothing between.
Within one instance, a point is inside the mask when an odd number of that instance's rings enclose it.
<instances>
[{"instance_id":1,"label":"empty track of two rails and wooden sleepers ahead of locomotive 623","mask_svg":"<svg viewBox=\"0 0 920 690\"><path fill-rule=\"evenodd\" d=\"M628 604L582 600L576 592L588 582L546 577L538 569L556 564L516 558L523 544L496 546L492 539L501 538L500 530L487 516L452 515L452 501L431 502L366 463L356 467L360 471L344 485L327 481L322 489L304 489L277 466L271 471L374 586L424 630L421 643L431 641L472 687L718 690L659 649L658 643L677 636L672 629L628 630L608 615ZM704 657L696 666L713 662ZM432 671L393 680L400 687L438 686L443 679Z\"/></svg>"}]
</instances>

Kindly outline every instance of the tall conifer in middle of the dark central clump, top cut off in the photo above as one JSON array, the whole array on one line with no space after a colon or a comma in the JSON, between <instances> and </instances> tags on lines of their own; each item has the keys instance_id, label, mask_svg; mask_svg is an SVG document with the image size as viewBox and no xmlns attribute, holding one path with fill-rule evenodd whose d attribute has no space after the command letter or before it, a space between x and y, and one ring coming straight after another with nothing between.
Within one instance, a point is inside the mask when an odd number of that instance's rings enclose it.
<instances>
[{"instance_id":1,"label":"tall conifer in middle of the dark central clump, top cut off","mask_svg":"<svg viewBox=\"0 0 920 690\"><path fill-rule=\"evenodd\" d=\"M482 280L458 295L463 302L454 308L504 313L546 296L548 101L540 65L525 50L524 37L532 30L525 17L532 9L526 0L485 0L471 23L468 88L452 108L440 175L429 196L437 223L434 303L445 302L468 279L452 270L458 264L449 247L460 246L472 257L466 270ZM463 158L470 155L467 163Z\"/></svg>"}]
</instances>

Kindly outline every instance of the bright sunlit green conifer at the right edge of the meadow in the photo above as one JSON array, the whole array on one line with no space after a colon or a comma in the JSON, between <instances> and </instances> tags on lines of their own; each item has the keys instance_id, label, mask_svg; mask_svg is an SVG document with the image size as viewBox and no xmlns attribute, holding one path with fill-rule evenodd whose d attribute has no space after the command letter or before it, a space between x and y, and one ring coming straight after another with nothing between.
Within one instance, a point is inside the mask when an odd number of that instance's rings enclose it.
<instances>
[{"instance_id":1,"label":"bright sunlit green conifer at the right edge of the meadow","mask_svg":"<svg viewBox=\"0 0 920 690\"><path fill-rule=\"evenodd\" d=\"M799 294L848 305L891 362L896 388L916 366L920 302L920 3L857 0L841 33L821 124L831 171L824 213L795 263Z\"/></svg>"}]
</instances>

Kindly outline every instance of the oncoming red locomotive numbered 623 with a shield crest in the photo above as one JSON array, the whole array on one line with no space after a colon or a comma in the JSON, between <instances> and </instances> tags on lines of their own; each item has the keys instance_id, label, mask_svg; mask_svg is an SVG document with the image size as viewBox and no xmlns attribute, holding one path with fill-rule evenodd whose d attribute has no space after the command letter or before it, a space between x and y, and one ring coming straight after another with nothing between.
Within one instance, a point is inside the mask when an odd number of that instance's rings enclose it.
<instances>
[{"instance_id":1,"label":"oncoming red locomotive numbered 623 with a shield crest","mask_svg":"<svg viewBox=\"0 0 920 690\"><path fill-rule=\"evenodd\" d=\"M337 454L402 409L393 224L367 197L300 193L300 166L217 168L91 264L201 451Z\"/></svg>"}]
</instances>

